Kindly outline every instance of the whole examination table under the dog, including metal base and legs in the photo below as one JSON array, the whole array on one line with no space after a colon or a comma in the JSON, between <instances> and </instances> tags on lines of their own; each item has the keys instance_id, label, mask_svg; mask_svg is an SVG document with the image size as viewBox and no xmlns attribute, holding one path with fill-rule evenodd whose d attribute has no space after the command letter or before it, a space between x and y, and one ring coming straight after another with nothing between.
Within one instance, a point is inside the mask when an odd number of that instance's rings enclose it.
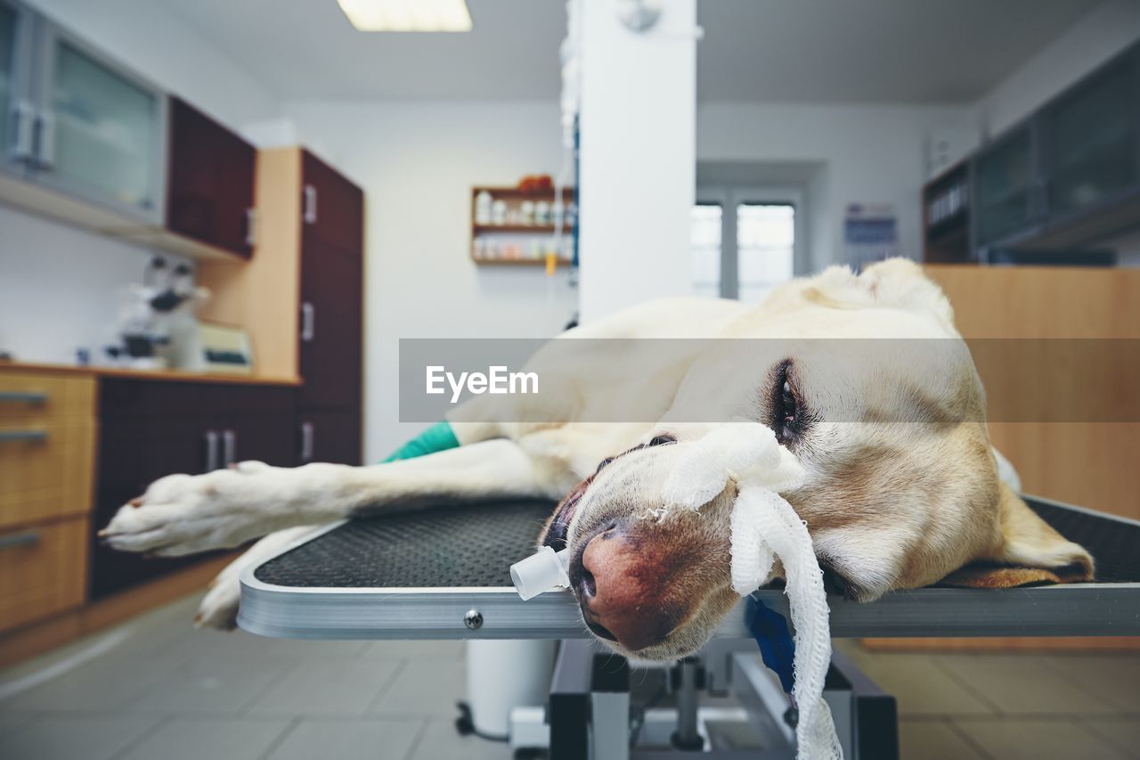
<instances>
[{"instance_id":1,"label":"whole examination table under the dog, including metal base and legs","mask_svg":"<svg viewBox=\"0 0 1140 760\"><path fill-rule=\"evenodd\" d=\"M832 637L1140 636L1140 523L1033 496L1026 501L1092 553L1097 582L926 588L871 604L831 597ZM530 723L521 728L512 717L512 733L536 726L543 731L537 746L548 747L552 760L662 757L630 746L632 734L643 741L656 733L657 746L715 747L709 728L715 710L698 708L699 690L736 697L744 720L771 750L724 750L718 757L793 757L787 700L759 663L744 618L748 600L728 615L699 661L673 666L676 709L663 718L660 710L646 711L636 731L630 729L634 719L620 718L636 713L629 712L628 668L580 640L589 634L573 596L548 592L522 601L511 585L510 565L532 552L551 511L549 502L519 501L317 528L244 572L238 624L262 636L304 639L563 639L545 710L531 709ZM788 616L781 589L754 596ZM894 698L838 653L824 697L846 758L898 757Z\"/></svg>"}]
</instances>

